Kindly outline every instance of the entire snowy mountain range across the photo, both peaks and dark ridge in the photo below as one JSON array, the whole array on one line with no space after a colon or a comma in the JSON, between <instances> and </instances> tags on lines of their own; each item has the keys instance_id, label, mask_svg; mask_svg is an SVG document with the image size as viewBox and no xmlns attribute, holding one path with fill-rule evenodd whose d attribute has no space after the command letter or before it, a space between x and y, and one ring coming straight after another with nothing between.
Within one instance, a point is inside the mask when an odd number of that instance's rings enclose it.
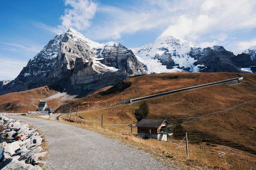
<instances>
[{"instance_id":1,"label":"entire snowy mountain range across the photo, both peaks and dark ridge","mask_svg":"<svg viewBox=\"0 0 256 170\"><path fill-rule=\"evenodd\" d=\"M74 29L58 34L12 81L0 82L0 94L50 85L86 94L137 74L162 72L256 72L256 46L229 52L222 46L160 36L127 49L117 42L97 43Z\"/></svg>"}]
</instances>

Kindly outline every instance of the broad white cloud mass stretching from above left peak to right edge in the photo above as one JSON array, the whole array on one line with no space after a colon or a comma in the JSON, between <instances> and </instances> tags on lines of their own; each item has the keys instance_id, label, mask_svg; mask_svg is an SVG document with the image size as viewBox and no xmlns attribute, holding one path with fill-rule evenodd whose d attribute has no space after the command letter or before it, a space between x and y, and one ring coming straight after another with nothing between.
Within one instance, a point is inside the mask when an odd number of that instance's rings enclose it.
<instances>
[{"instance_id":1,"label":"broad white cloud mass stretching from above left peak to right edge","mask_svg":"<svg viewBox=\"0 0 256 170\"><path fill-rule=\"evenodd\" d=\"M130 6L114 7L90 0L65 0L62 23L57 28L39 24L60 33L69 27L96 39L120 39L124 34L158 29L198 44L227 43L230 31L256 27L256 1L244 0L141 0ZM97 14L97 15L95 15ZM96 22L92 22L94 17Z\"/></svg>"}]
</instances>

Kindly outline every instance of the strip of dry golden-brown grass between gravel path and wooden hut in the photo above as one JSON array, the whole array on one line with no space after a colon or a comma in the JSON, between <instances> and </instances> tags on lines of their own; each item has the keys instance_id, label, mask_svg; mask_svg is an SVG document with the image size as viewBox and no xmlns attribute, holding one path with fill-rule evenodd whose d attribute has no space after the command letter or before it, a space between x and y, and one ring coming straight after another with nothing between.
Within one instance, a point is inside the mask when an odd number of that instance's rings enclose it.
<instances>
[{"instance_id":1,"label":"strip of dry golden-brown grass between gravel path and wooden hut","mask_svg":"<svg viewBox=\"0 0 256 170\"><path fill-rule=\"evenodd\" d=\"M66 118L66 116L62 116ZM72 115L72 120L75 116ZM244 169L249 170L251 167L255 167L255 155L240 151L231 147L222 145L204 144L204 149L200 150L200 143L195 141L189 141L189 159L186 158L185 147L178 147L181 140L174 139L174 144L171 143L171 137L169 137L169 143L161 142L156 139L143 139L138 137L137 128L133 128L133 135L130 131L120 132L127 125L109 125L103 123L103 129L101 130L100 122L86 122L77 118L78 121L82 121L82 124L70 123L62 121L63 123L71 124L73 126L84 128L87 130L96 131L109 138L118 139L124 143L127 143L138 149L150 152L160 161L163 161L173 167L181 169ZM104 120L104 118L103 118ZM130 127L127 128L128 130ZM126 129L126 130L127 130ZM182 143L184 144L184 141ZM226 155L218 155L220 152L226 152ZM179 166L177 166L179 165Z\"/></svg>"}]
</instances>

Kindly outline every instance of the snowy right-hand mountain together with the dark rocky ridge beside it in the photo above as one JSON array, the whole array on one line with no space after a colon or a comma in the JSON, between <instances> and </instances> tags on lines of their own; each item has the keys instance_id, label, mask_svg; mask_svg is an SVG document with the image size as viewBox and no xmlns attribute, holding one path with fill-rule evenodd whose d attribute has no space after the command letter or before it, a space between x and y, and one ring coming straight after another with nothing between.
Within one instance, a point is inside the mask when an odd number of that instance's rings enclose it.
<instances>
[{"instance_id":1,"label":"snowy right-hand mountain together with the dark rocky ridge beside it","mask_svg":"<svg viewBox=\"0 0 256 170\"><path fill-rule=\"evenodd\" d=\"M131 50L147 66L147 73L256 71L255 49L252 48L235 55L222 46L200 48L191 41L160 36Z\"/></svg>"}]
</instances>

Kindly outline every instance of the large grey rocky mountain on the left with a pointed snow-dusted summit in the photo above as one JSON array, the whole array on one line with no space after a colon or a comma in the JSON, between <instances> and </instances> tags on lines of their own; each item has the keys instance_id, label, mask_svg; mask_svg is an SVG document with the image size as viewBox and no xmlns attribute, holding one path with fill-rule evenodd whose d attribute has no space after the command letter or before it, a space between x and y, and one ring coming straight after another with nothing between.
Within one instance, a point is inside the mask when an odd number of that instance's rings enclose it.
<instances>
[{"instance_id":1,"label":"large grey rocky mountain on the left with a pointed snow-dusted summit","mask_svg":"<svg viewBox=\"0 0 256 170\"><path fill-rule=\"evenodd\" d=\"M50 40L15 80L2 85L0 94L44 85L88 93L141 74L144 69L133 52L123 45L97 43L69 29Z\"/></svg>"}]
</instances>

